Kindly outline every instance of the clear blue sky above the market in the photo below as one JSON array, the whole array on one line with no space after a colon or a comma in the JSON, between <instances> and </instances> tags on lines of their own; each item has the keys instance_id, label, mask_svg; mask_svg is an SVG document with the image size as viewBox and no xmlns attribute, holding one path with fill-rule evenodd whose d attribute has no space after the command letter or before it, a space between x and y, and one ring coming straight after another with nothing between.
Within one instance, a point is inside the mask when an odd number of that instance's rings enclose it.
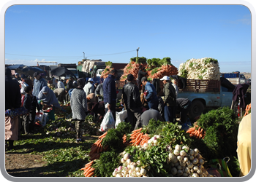
<instances>
[{"instance_id":1,"label":"clear blue sky above the market","mask_svg":"<svg viewBox=\"0 0 256 182\"><path fill-rule=\"evenodd\" d=\"M214 58L221 72L251 72L251 13L243 5L13 5L5 63L129 63L138 55ZM41 63L53 65L52 63Z\"/></svg>"}]
</instances>

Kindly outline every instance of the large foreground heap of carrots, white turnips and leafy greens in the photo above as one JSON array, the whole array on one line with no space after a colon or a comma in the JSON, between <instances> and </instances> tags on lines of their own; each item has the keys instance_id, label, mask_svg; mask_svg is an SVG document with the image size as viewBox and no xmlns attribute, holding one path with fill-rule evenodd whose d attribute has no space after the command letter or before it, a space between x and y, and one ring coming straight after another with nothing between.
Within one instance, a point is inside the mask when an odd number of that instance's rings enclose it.
<instances>
[{"instance_id":1,"label":"large foreground heap of carrots, white turnips and leafy greens","mask_svg":"<svg viewBox=\"0 0 256 182\"><path fill-rule=\"evenodd\" d=\"M192 138L178 124L151 119L146 127L132 132L130 128L121 122L99 138L108 151L80 169L86 177L213 176L203 166L199 150L189 147Z\"/></svg>"}]
</instances>

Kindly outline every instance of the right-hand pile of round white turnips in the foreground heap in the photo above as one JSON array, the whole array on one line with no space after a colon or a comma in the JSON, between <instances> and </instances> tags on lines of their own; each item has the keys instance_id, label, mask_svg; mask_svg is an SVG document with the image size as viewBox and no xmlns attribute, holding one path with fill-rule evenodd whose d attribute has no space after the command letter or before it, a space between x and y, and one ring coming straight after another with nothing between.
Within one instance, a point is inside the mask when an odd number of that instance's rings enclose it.
<instances>
[{"instance_id":1,"label":"right-hand pile of round white turnips in the foreground heap","mask_svg":"<svg viewBox=\"0 0 256 182\"><path fill-rule=\"evenodd\" d=\"M189 149L188 146L176 145L175 149L169 147L170 151L167 164L171 165L173 177L214 177L208 174L203 167L205 163L198 149Z\"/></svg>"}]
</instances>

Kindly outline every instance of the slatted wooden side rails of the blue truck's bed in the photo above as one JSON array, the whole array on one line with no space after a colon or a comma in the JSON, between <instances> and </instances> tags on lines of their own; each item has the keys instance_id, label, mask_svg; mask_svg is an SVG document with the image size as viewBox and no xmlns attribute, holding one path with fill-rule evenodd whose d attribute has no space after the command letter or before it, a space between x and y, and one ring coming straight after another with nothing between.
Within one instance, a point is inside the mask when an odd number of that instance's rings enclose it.
<instances>
[{"instance_id":1,"label":"slatted wooden side rails of the blue truck's bed","mask_svg":"<svg viewBox=\"0 0 256 182\"><path fill-rule=\"evenodd\" d=\"M187 87L181 88L181 80L178 80L178 92L219 92L219 80L187 79Z\"/></svg>"}]
</instances>

